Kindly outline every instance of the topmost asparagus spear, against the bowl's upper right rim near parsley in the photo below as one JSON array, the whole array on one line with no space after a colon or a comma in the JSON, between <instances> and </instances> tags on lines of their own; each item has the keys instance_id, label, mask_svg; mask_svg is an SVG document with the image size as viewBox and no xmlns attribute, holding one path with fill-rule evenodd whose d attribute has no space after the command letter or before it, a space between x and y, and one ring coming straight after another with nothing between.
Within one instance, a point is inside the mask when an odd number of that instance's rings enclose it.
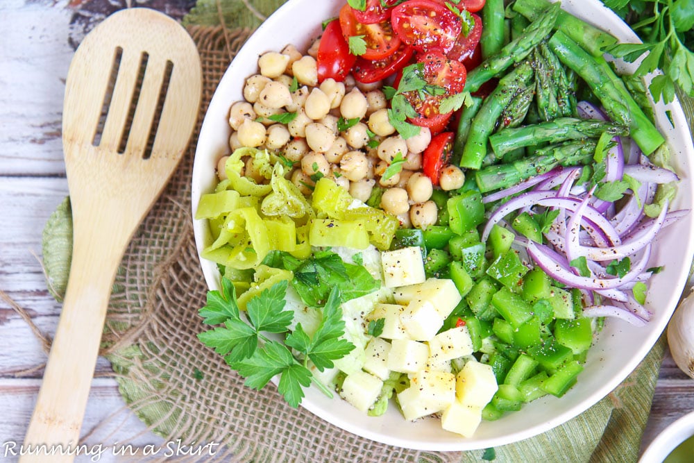
<instances>
[{"instance_id":1,"label":"topmost asparagus spear, against the bowl's upper right rim near parsley","mask_svg":"<svg viewBox=\"0 0 694 463\"><path fill-rule=\"evenodd\" d=\"M516 0L514 10L534 21L550 6L547 0ZM595 26L578 19L566 11L560 11L555 23L555 29L561 31L578 42L593 56L602 56L603 50L617 43L617 39L608 33L600 31Z\"/></svg>"}]
</instances>

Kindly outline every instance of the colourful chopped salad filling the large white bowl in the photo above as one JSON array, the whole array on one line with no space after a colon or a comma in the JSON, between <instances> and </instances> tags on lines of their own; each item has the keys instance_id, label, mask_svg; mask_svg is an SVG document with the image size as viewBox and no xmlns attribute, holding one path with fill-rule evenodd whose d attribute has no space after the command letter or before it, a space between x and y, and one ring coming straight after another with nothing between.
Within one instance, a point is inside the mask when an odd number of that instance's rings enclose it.
<instances>
[{"instance_id":1,"label":"colourful chopped salad filling the large white bowl","mask_svg":"<svg viewBox=\"0 0 694 463\"><path fill-rule=\"evenodd\" d=\"M263 53L196 210L201 341L292 406L313 384L464 437L566 394L606 317L648 323L688 213L615 44L546 0L348 0Z\"/></svg>"}]
</instances>

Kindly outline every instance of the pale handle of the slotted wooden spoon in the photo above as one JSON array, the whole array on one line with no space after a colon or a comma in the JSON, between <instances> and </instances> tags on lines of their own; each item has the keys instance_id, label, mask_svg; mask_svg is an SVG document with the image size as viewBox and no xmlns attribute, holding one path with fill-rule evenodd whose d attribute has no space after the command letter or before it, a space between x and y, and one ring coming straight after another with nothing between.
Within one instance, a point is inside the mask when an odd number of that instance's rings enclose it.
<instances>
[{"instance_id":1,"label":"pale handle of the slotted wooden spoon","mask_svg":"<svg viewBox=\"0 0 694 463\"><path fill-rule=\"evenodd\" d=\"M86 226L75 221L65 302L24 439L25 448L45 444L46 451L24 455L21 462L74 460L113 280L130 238L130 233L119 233L122 224L110 221L90 221ZM51 448L56 449L53 454Z\"/></svg>"}]
</instances>

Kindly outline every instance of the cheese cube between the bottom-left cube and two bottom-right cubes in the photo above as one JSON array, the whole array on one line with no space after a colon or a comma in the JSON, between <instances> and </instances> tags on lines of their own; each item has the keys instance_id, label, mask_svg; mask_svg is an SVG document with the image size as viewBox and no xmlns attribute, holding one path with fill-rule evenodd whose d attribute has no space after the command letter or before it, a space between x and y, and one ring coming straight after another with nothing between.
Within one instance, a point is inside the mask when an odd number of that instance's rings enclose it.
<instances>
[{"instance_id":1,"label":"cheese cube between the bottom-left cube and two bottom-right cubes","mask_svg":"<svg viewBox=\"0 0 694 463\"><path fill-rule=\"evenodd\" d=\"M410 387L398 394L405 419L414 420L441 412L455 402L453 373L421 370L409 382Z\"/></svg>"}]
</instances>

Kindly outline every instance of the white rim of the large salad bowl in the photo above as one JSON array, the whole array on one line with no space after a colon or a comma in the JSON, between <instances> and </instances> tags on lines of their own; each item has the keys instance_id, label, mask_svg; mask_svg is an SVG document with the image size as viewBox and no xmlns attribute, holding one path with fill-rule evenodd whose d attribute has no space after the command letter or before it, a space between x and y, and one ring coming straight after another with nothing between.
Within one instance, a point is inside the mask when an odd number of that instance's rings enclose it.
<instances>
[{"instance_id":1,"label":"white rim of the large salad bowl","mask_svg":"<svg viewBox=\"0 0 694 463\"><path fill-rule=\"evenodd\" d=\"M296 7L298 3L308 3L310 0L289 0L286 3L284 3L276 12L273 13L266 21L261 24L259 28L255 31L255 33L248 39L246 44L244 44L244 47L239 50L237 53L237 56L241 56L244 53L253 53L254 49L259 49L257 48L259 45L262 45L262 40L260 40L260 37L267 31L272 31L274 27L276 27L276 24L278 21L281 20L281 18L289 12L289 10L292 10ZM555 1L555 0L551 0ZM595 12L595 9L598 9L598 12L604 13L609 18L609 25L608 27L604 27L604 24L602 24L601 28L604 30L609 31L610 33L613 33L613 35L616 35L620 37L620 41L623 42L637 42L638 37L636 37L636 34L632 31L627 24L625 24L621 19L619 19L611 10L609 10L607 7L602 5L598 0L564 0L562 2L562 8L565 10L568 10L569 12L573 12L576 14L577 12L579 13L579 9L582 8L582 6L585 6L586 3L589 5L589 9L593 12ZM580 14L578 14L580 16ZM591 22L595 24L595 21L591 19L601 19L601 15L595 15L593 17L583 17L587 22ZM602 19L603 21L607 21L607 19ZM246 50L246 51L244 51ZM634 63L633 68L638 65L637 63ZM627 66L628 67L628 66ZM208 108L208 112L205 115L205 119L203 120L203 125L201 127L201 136L198 138L198 146L196 148L196 160L198 159L198 151L201 149L204 149L205 145L204 143L201 145L200 140L203 140L203 134L205 133L205 122L208 119L208 116L212 113L212 108L214 105L221 104L219 101L215 100L215 96L219 93L219 88L225 85L226 81L233 81L235 77L232 77L232 71L235 71L235 67L232 64L230 67L227 69L225 72L223 78L221 79L219 86L217 90L215 91L212 100L210 101L210 107ZM244 74L245 76L248 74ZM230 106L231 101L226 101L224 104L226 104L226 108ZM659 129L661 132L666 133L666 131L661 124L663 124L663 118L664 116L664 108L667 108L670 110L671 115L672 115L672 120L675 122L675 127L679 126L681 127L679 131L677 129L673 128L672 133L668 135L667 133L665 134L668 139L674 135L673 133L677 133L677 136L682 136L684 137L682 142L684 143L684 150L685 152L683 155L688 156L689 158L694 159L694 146L691 142L691 134L688 131L688 126L686 124L686 119L684 118L684 112L682 110L682 107L679 105L679 101L675 100L674 102L670 103L668 106L663 106L662 103L659 103L657 105L657 108L659 110ZM211 116L210 116L211 117ZM682 124L684 124L684 130L682 129ZM201 146L203 146L201 148ZM203 156L201 156L203 157ZM198 181L196 183L196 179L199 180L199 176L201 175L201 169L210 169L210 166L201 166L198 165L198 162L194 164L194 169L193 169L193 187L192 187L192 210L193 213L196 210L199 198L201 194L203 193L201 189L200 182ZM683 178L683 180L688 180L686 178ZM684 194L682 190L678 193L678 196ZM689 190L689 195L687 196L688 203L691 205L694 205L694 192L692 190ZM691 216L691 214L689 214ZM687 223L690 224L690 229L694 230L694 227L692 226L692 218L687 217L686 218ZM216 268L213 268L212 264L207 264L205 265L205 260L200 257L200 252L203 249L204 246L204 237L203 235L205 234L205 231L203 230L203 225L201 224L203 221L194 221L194 235L196 239L196 246L198 248L198 257L201 259L201 267L203 268L203 273L205 274L205 280L208 283L208 287L210 289L219 289L219 283L217 283L216 278L219 278L219 273L217 272ZM686 242L686 246L684 246L684 253L688 257L689 261L691 262L691 258L694 255L694 241L692 239L688 239ZM687 267L688 268L688 267ZM216 275L214 273L217 273ZM679 292L682 292L682 289L684 289L684 285L686 283L686 280L688 278L688 274L686 271L680 271L680 273L677 274L677 281L675 283L675 287L678 289ZM573 419L575 416L581 414L582 412L585 412L588 410L590 407L598 403L604 396L607 396L609 392L611 392L613 389L615 389L620 382L623 382L627 376L629 376L634 369L638 366L638 364L643 360L645 355L648 354L652 346L657 342L657 339L661 335L661 332L666 328L667 321L669 317L672 315L672 312L675 310L676 303L672 304L672 307L668 309L666 313L666 317L661 317L657 323L657 326L655 328L651 328L649 331L649 334L645 339L643 339L643 343L639 346L636 347L635 349L635 355L632 355L629 357L629 360L623 364L623 367L618 371L616 375L611 376L611 379L607 382L604 382L604 384L601 385L598 389L595 390L592 394L589 394L584 398L582 401L577 403L576 405L573 405L572 407L569 407L566 411L561 412L560 414L553 415L550 419L547 419L544 421L541 425L537 425L534 427L530 428L525 428L518 430L517 432L512 432L510 434L505 434L499 437L489 437L489 438L484 438L484 439L475 439L473 438L463 438L459 437L455 442L452 443L441 443L441 442L424 442L424 441L406 441L400 438L393 438L389 437L388 435L384 435L382 432L375 432L372 430L365 430L364 427L358 426L355 423L352 423L348 417L346 416L340 416L339 414L332 414L329 410L324 410L324 408L319 404L315 403L314 401L305 400L302 402L302 406L306 409L312 412L314 415L318 416L321 419L324 419L325 421L328 421L332 423L333 425L342 428L344 430L347 430L348 432L352 432L355 435L359 435L362 437L366 437L368 439L374 440L374 441L380 441L384 444L390 444L390 445L395 445L395 446L400 446L400 447L405 447L405 448L413 448L417 450L424 450L424 451L466 451L466 450L475 450L475 449L480 449L480 448L487 448L487 447L492 447L492 446L500 446L500 445L505 445L505 444L511 444L516 441L521 441L523 439L527 439L529 437L534 437L536 435L540 435L543 432L547 432L548 430L551 430L552 428L555 428L557 426L560 426L563 423L566 423L566 421L569 421L570 419ZM652 324L654 322L651 322ZM651 325L652 326L652 325ZM595 346L591 348L591 351L595 349ZM540 399L541 400L541 399Z\"/></svg>"}]
</instances>

